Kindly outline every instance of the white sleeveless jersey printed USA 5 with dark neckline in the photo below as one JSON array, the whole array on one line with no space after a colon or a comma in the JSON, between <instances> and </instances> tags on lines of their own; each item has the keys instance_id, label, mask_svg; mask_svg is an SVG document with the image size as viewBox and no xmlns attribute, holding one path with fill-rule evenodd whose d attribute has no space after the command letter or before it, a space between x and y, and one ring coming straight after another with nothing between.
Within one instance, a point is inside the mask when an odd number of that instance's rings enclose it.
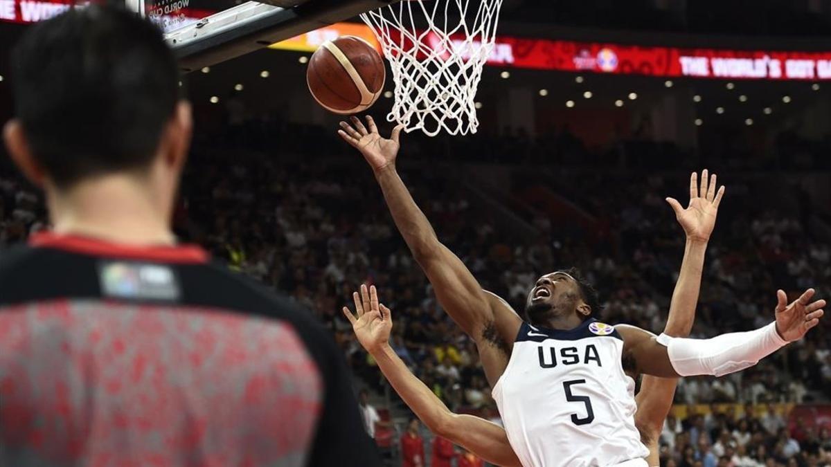
<instances>
[{"instance_id":1,"label":"white sleeveless jersey printed USA 5 with dark neckline","mask_svg":"<svg viewBox=\"0 0 831 467\"><path fill-rule=\"evenodd\" d=\"M649 454L622 353L620 334L594 319L568 331L519 328L493 394L524 467L602 467Z\"/></svg>"}]
</instances>

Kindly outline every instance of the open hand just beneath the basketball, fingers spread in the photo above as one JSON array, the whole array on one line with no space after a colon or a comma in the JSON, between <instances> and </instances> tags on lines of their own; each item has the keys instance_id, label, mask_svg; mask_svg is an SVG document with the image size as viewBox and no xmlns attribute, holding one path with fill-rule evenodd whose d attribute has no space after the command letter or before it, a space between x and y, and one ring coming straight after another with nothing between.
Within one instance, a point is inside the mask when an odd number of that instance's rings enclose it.
<instances>
[{"instance_id":1,"label":"open hand just beneath the basketball, fingers spread","mask_svg":"<svg viewBox=\"0 0 831 467\"><path fill-rule=\"evenodd\" d=\"M337 130L337 134L361 151L366 162L376 173L388 167L395 167L396 156L401 148L399 144L401 130L404 126L398 125L393 128L390 139L386 140L378 134L378 127L371 116L366 116L366 126L355 116L350 120L352 125L345 121L341 122L341 130Z\"/></svg>"}]
</instances>

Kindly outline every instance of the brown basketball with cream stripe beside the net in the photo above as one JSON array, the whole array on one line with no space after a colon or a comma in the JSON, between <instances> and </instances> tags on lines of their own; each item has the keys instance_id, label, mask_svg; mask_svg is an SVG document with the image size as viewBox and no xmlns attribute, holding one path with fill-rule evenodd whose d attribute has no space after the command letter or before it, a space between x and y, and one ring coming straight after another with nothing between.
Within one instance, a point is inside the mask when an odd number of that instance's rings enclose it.
<instances>
[{"instance_id":1,"label":"brown basketball with cream stripe beside the net","mask_svg":"<svg viewBox=\"0 0 831 467\"><path fill-rule=\"evenodd\" d=\"M368 42L343 36L317 49L309 61L306 79L318 104L348 115L366 111L378 100L386 69L381 54Z\"/></svg>"}]
</instances>

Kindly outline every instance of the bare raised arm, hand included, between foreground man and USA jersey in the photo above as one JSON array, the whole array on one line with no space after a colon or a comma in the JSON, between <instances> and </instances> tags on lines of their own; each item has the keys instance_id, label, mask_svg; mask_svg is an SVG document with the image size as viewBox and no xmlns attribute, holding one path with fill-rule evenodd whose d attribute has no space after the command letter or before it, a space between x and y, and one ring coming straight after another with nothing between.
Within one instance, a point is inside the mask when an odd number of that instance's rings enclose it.
<instances>
[{"instance_id":1,"label":"bare raised arm, hand included, between foreground man and USA jersey","mask_svg":"<svg viewBox=\"0 0 831 467\"><path fill-rule=\"evenodd\" d=\"M375 358L381 372L401 399L436 435L495 464L519 467L519 459L508 442L505 430L488 420L472 415L458 415L425 386L390 347L392 317L390 309L378 302L375 286L353 294L356 315L343 307L343 314L366 351Z\"/></svg>"}]
</instances>

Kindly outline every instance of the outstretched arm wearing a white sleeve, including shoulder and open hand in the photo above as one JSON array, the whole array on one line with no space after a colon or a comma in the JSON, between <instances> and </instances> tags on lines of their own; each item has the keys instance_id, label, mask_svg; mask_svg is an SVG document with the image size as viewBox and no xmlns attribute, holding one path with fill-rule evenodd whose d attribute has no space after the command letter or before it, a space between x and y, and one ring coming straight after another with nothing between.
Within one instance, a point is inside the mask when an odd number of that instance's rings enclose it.
<instances>
[{"instance_id":1,"label":"outstretched arm wearing a white sleeve, including shoulder and open hand","mask_svg":"<svg viewBox=\"0 0 831 467\"><path fill-rule=\"evenodd\" d=\"M777 292L776 320L754 331L731 332L711 339L656 337L639 327L620 325L623 353L635 361L636 371L652 376L724 376L754 366L765 356L798 341L823 317L825 300L811 302L809 288L788 304Z\"/></svg>"}]
</instances>

